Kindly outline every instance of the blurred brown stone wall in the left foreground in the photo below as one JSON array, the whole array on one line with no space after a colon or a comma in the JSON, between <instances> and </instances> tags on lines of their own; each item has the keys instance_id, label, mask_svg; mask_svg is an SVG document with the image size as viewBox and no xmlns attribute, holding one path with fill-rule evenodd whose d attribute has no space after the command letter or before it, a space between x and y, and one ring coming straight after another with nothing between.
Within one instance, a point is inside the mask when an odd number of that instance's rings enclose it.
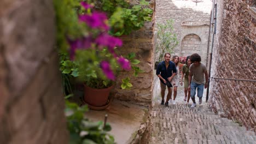
<instances>
[{"instance_id":1,"label":"blurred brown stone wall in the left foreground","mask_svg":"<svg viewBox=\"0 0 256 144\"><path fill-rule=\"evenodd\" d=\"M0 143L68 143L52 1L2 1L0 17Z\"/></svg>"}]
</instances>

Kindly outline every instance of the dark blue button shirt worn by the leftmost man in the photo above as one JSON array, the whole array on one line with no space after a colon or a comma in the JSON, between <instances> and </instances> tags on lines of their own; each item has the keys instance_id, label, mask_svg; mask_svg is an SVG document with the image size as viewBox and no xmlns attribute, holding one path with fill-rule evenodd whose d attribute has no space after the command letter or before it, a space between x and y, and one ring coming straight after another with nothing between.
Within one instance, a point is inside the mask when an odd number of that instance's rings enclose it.
<instances>
[{"instance_id":1,"label":"dark blue button shirt worn by the leftmost man","mask_svg":"<svg viewBox=\"0 0 256 144\"><path fill-rule=\"evenodd\" d=\"M156 68L156 75L160 74L166 81L168 81L168 77L172 76L172 73L177 73L176 65L172 61L169 62L167 69L165 66L165 61L160 62ZM160 81L165 84L163 80L160 79Z\"/></svg>"}]
</instances>

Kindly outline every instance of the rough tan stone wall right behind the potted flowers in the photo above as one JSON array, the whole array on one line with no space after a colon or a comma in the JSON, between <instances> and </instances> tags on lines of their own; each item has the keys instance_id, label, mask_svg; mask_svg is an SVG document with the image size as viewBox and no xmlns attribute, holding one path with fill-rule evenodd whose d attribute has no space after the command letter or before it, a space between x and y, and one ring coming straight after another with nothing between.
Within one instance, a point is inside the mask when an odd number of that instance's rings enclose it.
<instances>
[{"instance_id":1,"label":"rough tan stone wall right behind the potted flowers","mask_svg":"<svg viewBox=\"0 0 256 144\"><path fill-rule=\"evenodd\" d=\"M150 1L149 7L154 10L154 0ZM135 52L136 59L141 61L137 66L144 72L139 73L138 77L134 77L132 71L122 71L112 94L121 100L133 101L141 105L151 104L153 97L154 13L151 22L146 22L143 28L130 35L124 35L121 39L123 40L121 54L127 55L127 53ZM121 79L127 76L130 77L133 87L121 89Z\"/></svg>"}]
</instances>

